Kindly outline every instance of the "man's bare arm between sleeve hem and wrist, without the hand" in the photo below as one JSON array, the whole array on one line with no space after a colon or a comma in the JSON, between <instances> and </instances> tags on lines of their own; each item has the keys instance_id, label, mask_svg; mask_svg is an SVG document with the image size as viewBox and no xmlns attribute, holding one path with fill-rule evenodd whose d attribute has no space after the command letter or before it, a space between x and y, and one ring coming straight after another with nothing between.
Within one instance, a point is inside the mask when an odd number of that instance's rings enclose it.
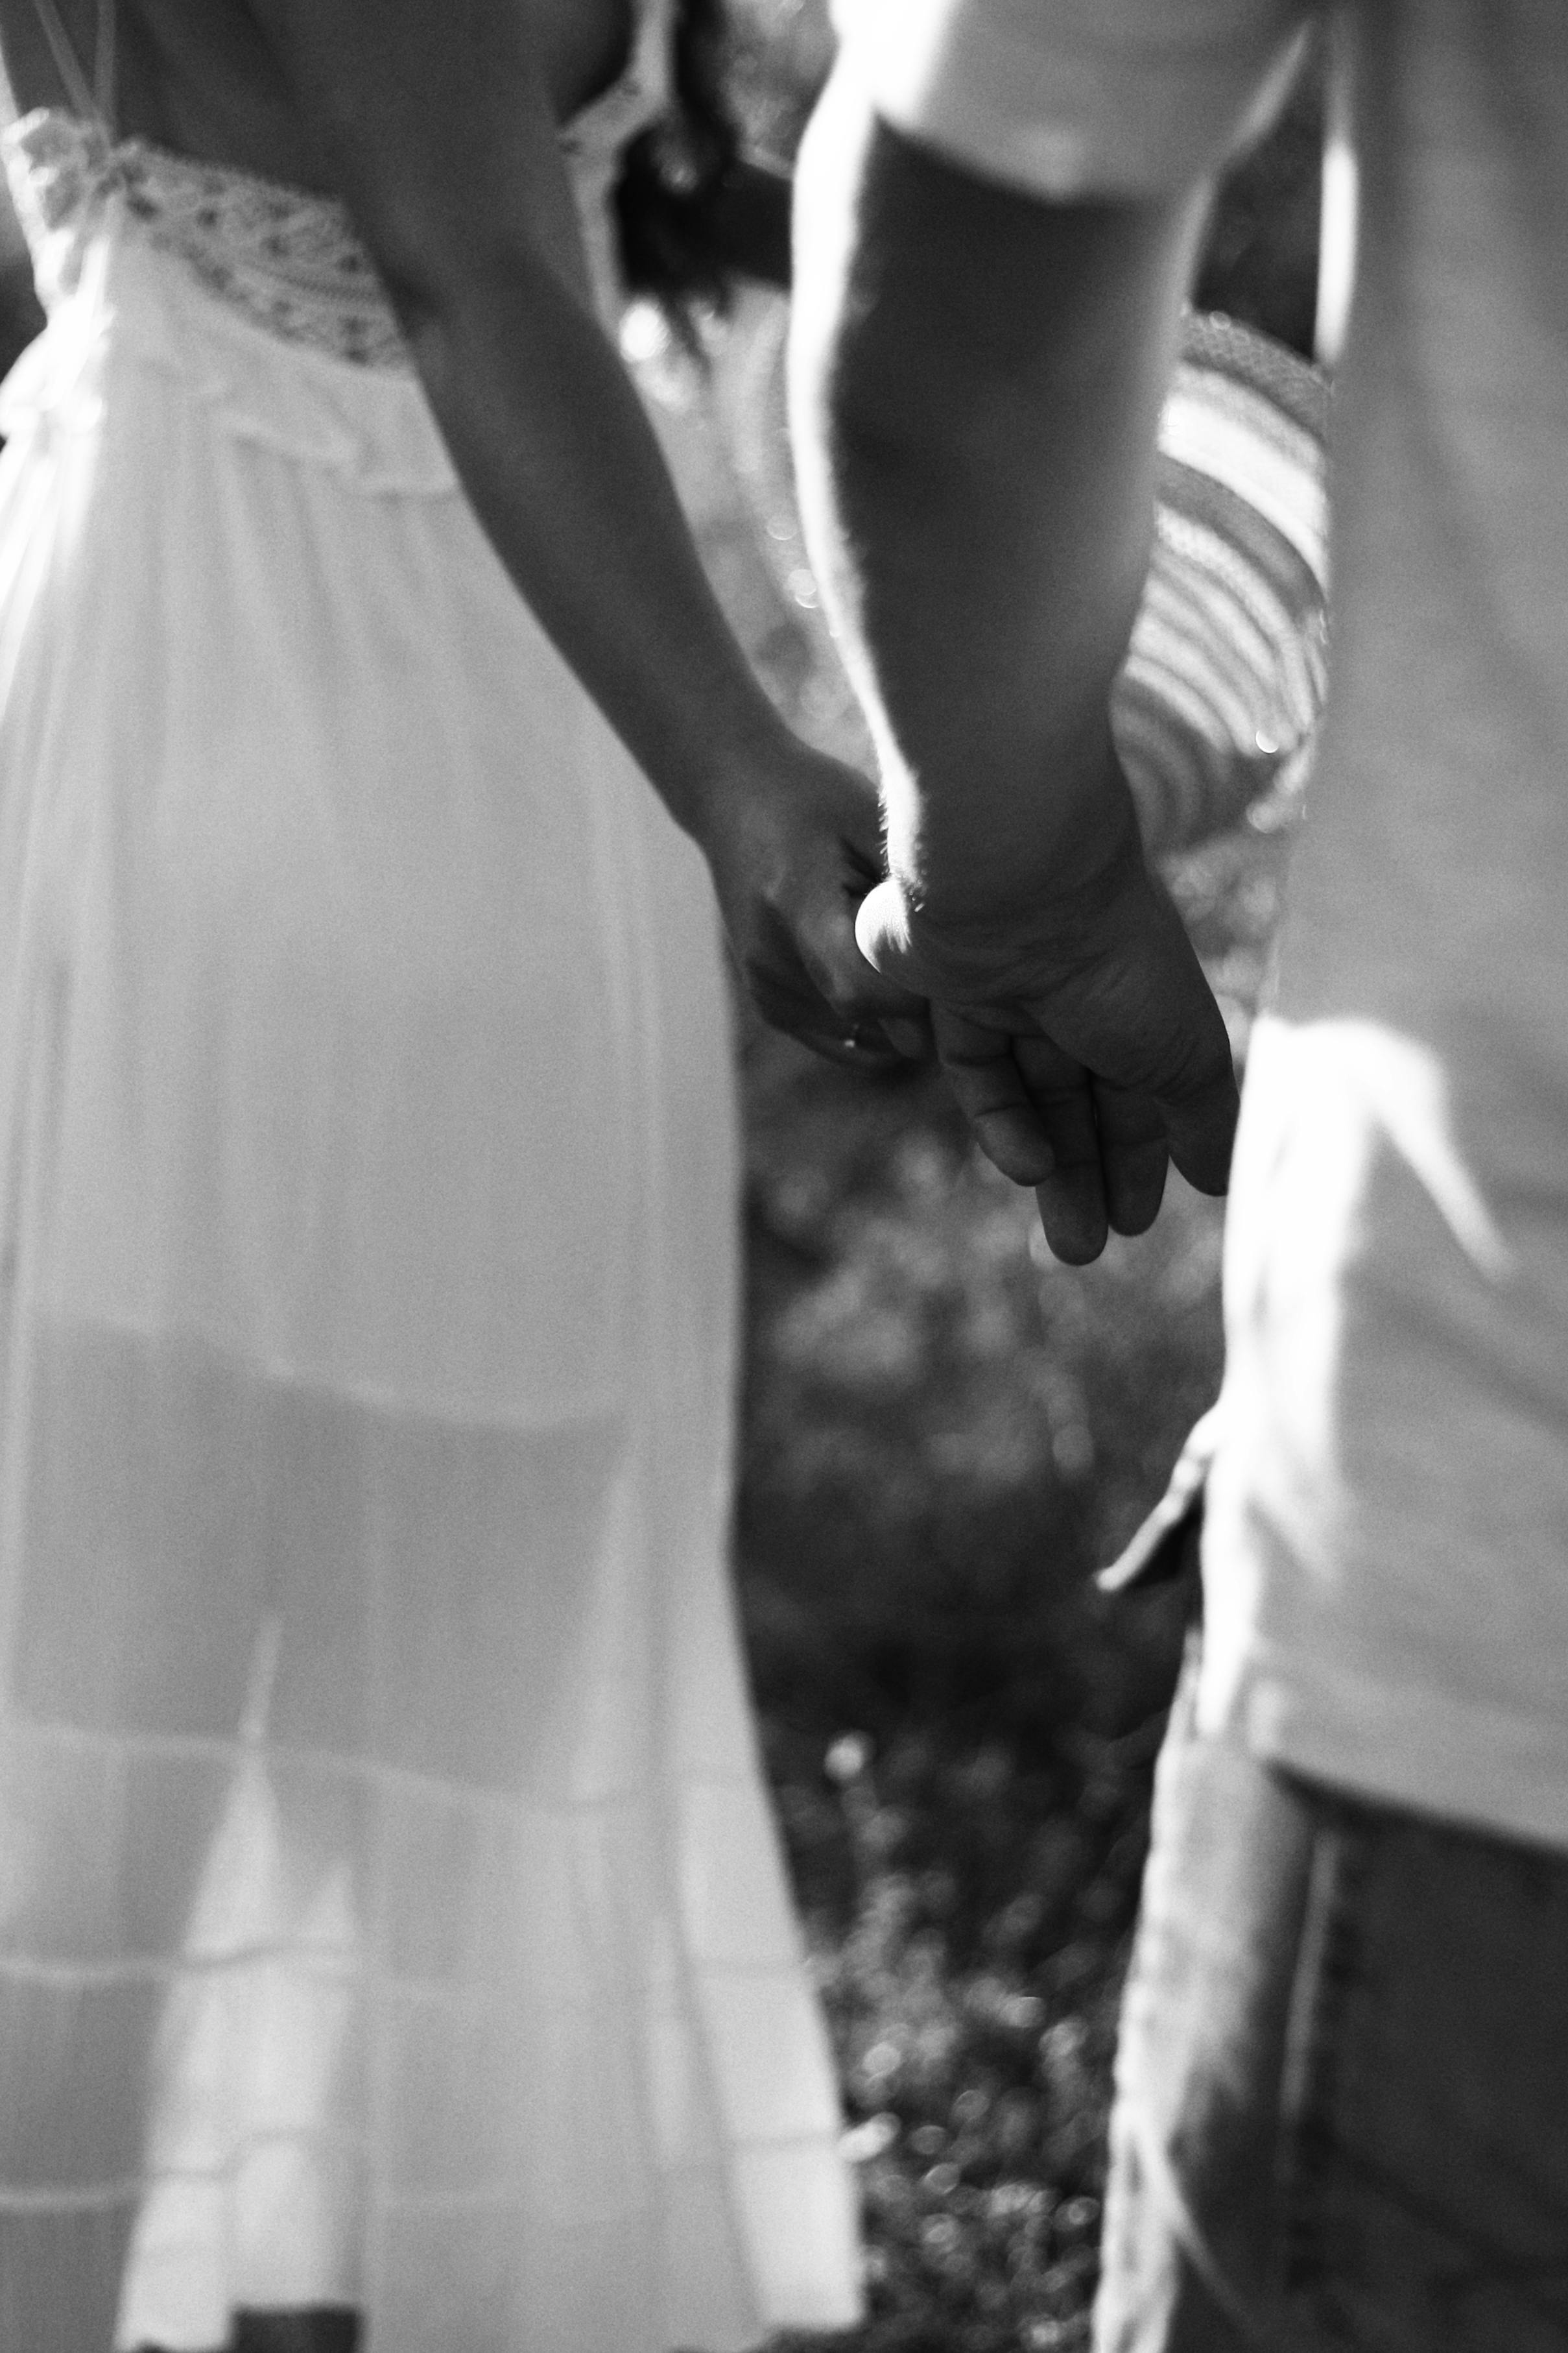
<instances>
[{"instance_id":1,"label":"man's bare arm between sleeve hem and wrist, without the hand","mask_svg":"<svg viewBox=\"0 0 1568 2353\"><path fill-rule=\"evenodd\" d=\"M802 153L806 532L879 734L893 868L952 913L1072 887L1131 824L1107 701L1199 219L1199 191L987 186L842 80Z\"/></svg>"}]
</instances>

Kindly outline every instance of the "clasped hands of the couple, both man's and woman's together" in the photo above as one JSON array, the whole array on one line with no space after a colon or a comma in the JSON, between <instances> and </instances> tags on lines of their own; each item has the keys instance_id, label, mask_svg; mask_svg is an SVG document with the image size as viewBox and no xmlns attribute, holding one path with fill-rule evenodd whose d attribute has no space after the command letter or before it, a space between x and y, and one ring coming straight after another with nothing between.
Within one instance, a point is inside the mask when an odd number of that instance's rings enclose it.
<instances>
[{"instance_id":1,"label":"clasped hands of the couple, both man's and woman's together","mask_svg":"<svg viewBox=\"0 0 1568 2353\"><path fill-rule=\"evenodd\" d=\"M1070 882L976 894L971 878L954 908L884 875L872 786L792 746L724 798L703 847L764 1019L865 1068L936 1042L980 1148L1034 1186L1058 1259L1145 1233L1171 1160L1225 1191L1229 1038L1131 807Z\"/></svg>"}]
</instances>

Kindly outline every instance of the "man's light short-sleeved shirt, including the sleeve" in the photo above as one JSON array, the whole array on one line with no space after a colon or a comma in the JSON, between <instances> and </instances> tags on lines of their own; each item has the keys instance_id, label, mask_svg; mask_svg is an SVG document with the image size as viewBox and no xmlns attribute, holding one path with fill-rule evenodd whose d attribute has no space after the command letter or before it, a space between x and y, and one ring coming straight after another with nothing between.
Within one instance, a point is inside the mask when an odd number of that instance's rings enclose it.
<instances>
[{"instance_id":1,"label":"man's light short-sleeved shirt, including the sleeve","mask_svg":"<svg viewBox=\"0 0 1568 2353\"><path fill-rule=\"evenodd\" d=\"M879 113L1180 191L1295 0L842 0ZM1201 1722L1568 1847L1568 12L1363 0L1333 682L1232 1181Z\"/></svg>"}]
</instances>

